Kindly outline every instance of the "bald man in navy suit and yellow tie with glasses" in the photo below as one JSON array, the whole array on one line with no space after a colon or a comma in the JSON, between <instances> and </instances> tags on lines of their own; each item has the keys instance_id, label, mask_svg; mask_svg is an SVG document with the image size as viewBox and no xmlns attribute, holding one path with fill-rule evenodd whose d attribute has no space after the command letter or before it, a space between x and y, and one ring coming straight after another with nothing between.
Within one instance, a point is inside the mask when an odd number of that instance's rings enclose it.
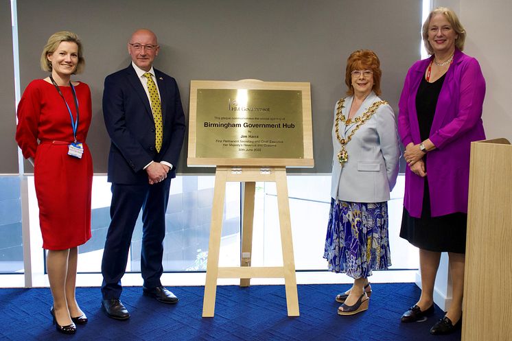
<instances>
[{"instance_id":1,"label":"bald man in navy suit and yellow tie with glasses","mask_svg":"<svg viewBox=\"0 0 512 341\"><path fill-rule=\"evenodd\" d=\"M128 42L132 63L105 79L103 115L111 141L112 203L102 259L102 307L117 320L130 317L119 301L121 277L141 209L143 294L163 303L178 302L160 277L165 210L183 145L185 115L176 80L152 66L159 49L153 32L135 31Z\"/></svg>"}]
</instances>

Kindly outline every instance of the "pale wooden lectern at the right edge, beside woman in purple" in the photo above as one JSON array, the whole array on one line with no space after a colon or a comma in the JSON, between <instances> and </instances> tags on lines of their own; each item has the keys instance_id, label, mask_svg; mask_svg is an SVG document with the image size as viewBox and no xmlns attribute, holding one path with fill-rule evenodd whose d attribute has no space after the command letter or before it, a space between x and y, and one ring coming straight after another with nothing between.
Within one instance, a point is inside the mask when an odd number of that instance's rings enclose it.
<instances>
[{"instance_id":1,"label":"pale wooden lectern at the right edge, beside woman in purple","mask_svg":"<svg viewBox=\"0 0 512 341\"><path fill-rule=\"evenodd\" d=\"M463 341L512 340L512 145L471 144Z\"/></svg>"}]
</instances>

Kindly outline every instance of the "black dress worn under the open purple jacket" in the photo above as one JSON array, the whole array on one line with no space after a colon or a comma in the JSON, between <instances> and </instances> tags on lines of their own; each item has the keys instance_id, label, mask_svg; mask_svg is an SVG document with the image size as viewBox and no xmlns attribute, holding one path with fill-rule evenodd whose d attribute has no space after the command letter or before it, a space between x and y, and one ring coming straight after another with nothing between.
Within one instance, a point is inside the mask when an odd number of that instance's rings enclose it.
<instances>
[{"instance_id":1,"label":"black dress worn under the open purple jacket","mask_svg":"<svg viewBox=\"0 0 512 341\"><path fill-rule=\"evenodd\" d=\"M446 73L433 83L427 82L424 77L421 78L416 95L416 111L421 141L430 137L430 128L432 128L432 121L434 121L437 99L445 75ZM428 154L425 155L424 161L428 174ZM425 177L424 184L421 217L411 217L404 207L400 237L407 239L410 244L423 250L465 253L467 214L457 212L431 217L428 176Z\"/></svg>"}]
</instances>

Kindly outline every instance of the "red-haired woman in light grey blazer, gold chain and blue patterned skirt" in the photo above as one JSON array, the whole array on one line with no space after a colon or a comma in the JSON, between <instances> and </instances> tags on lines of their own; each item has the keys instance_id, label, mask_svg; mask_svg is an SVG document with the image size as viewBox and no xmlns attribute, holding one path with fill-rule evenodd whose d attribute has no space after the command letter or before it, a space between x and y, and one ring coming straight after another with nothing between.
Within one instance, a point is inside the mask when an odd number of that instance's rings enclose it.
<instances>
[{"instance_id":1,"label":"red-haired woman in light grey blazer, gold chain and blue patterned skirt","mask_svg":"<svg viewBox=\"0 0 512 341\"><path fill-rule=\"evenodd\" d=\"M372 270L391 266L388 240L389 192L399 168L399 139L393 109L380 95L379 58L354 51L347 60L348 97L336 102L331 209L324 258L329 270L354 279L336 296L340 315L368 309Z\"/></svg>"}]
</instances>

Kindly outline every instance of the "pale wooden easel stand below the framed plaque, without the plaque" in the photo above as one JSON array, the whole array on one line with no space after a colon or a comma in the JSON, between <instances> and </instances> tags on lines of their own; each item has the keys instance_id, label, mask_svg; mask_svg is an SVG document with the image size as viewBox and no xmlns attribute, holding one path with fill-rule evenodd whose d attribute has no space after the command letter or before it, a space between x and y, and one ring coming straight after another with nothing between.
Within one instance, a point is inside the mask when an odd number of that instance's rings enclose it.
<instances>
[{"instance_id":1,"label":"pale wooden easel stand below the framed plaque, without the plaque","mask_svg":"<svg viewBox=\"0 0 512 341\"><path fill-rule=\"evenodd\" d=\"M244 211L242 215L242 254L240 259L242 266L219 268L222 215L224 211L226 182L228 181L245 183ZM276 183L283 266L251 266L256 181ZM285 167L217 167L215 187L213 189L213 207L211 211L211 228L202 317L213 317L215 313L217 279L219 278L240 279L241 287L249 286L251 284L251 278L284 278L288 316L299 316L299 299L297 297L292 228L290 224L290 207L288 204L288 186Z\"/></svg>"}]
</instances>

